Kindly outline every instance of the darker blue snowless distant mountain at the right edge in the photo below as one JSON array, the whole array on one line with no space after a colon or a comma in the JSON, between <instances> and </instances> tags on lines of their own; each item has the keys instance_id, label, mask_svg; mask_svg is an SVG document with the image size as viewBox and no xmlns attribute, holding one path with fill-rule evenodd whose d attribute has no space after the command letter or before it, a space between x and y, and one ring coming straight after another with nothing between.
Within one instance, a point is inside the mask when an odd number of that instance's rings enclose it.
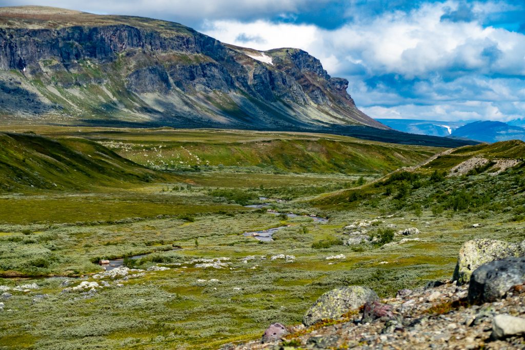
<instances>
[{"instance_id":1,"label":"darker blue snowless distant mountain at the right edge","mask_svg":"<svg viewBox=\"0 0 525 350\"><path fill-rule=\"evenodd\" d=\"M501 121L475 121L457 128L452 132L452 136L482 142L525 140L525 128Z\"/></svg>"}]
</instances>

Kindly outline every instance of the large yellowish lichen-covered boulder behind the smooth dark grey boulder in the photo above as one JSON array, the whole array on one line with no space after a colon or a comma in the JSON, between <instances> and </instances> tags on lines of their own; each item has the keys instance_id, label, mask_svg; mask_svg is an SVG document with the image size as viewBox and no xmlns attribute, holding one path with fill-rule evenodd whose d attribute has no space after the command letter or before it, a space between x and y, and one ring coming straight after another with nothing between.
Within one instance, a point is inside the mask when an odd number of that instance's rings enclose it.
<instances>
[{"instance_id":1,"label":"large yellowish lichen-covered boulder behind the smooth dark grey boulder","mask_svg":"<svg viewBox=\"0 0 525 350\"><path fill-rule=\"evenodd\" d=\"M507 256L523 255L525 241L521 244L491 239L475 239L461 246L453 281L458 285L468 283L470 275L482 264Z\"/></svg>"}]
</instances>

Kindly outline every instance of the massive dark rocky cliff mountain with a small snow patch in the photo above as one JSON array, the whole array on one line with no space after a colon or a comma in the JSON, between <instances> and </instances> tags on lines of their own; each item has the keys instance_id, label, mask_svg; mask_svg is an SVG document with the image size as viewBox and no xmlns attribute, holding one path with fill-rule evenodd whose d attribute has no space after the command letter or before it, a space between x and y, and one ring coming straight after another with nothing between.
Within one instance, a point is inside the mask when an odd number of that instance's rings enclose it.
<instances>
[{"instance_id":1,"label":"massive dark rocky cliff mountain with a small snow patch","mask_svg":"<svg viewBox=\"0 0 525 350\"><path fill-rule=\"evenodd\" d=\"M355 107L347 87L299 49L257 52L147 18L0 8L6 119L386 129Z\"/></svg>"}]
</instances>

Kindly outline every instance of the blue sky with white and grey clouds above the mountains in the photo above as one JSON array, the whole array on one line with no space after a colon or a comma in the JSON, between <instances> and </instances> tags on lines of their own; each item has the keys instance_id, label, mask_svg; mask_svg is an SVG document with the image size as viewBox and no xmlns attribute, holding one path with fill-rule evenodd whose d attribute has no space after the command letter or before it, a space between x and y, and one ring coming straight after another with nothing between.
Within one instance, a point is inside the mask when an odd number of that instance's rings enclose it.
<instances>
[{"instance_id":1,"label":"blue sky with white and grey clouds above the mountains","mask_svg":"<svg viewBox=\"0 0 525 350\"><path fill-rule=\"evenodd\" d=\"M525 0L0 0L173 20L260 50L299 47L376 118L525 117Z\"/></svg>"}]
</instances>

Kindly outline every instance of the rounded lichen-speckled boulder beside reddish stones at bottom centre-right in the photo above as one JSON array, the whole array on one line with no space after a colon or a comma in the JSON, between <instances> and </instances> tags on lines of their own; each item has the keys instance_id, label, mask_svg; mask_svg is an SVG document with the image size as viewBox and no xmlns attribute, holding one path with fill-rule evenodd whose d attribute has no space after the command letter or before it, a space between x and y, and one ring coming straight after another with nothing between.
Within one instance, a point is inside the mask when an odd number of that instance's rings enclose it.
<instances>
[{"instance_id":1,"label":"rounded lichen-speckled boulder beside reddish stones at bottom centre-right","mask_svg":"<svg viewBox=\"0 0 525 350\"><path fill-rule=\"evenodd\" d=\"M304 314L302 323L311 326L324 319L340 318L342 315L357 311L366 302L379 300L370 288L352 285L324 293Z\"/></svg>"}]
</instances>

